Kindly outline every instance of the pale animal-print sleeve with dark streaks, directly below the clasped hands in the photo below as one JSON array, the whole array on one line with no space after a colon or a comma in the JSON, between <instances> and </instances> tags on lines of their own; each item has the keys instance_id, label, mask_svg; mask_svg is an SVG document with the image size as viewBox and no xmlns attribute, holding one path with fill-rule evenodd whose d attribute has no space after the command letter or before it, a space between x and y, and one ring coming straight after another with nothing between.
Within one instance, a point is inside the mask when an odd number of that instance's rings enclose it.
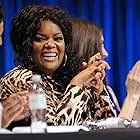
<instances>
[{"instance_id":1,"label":"pale animal-print sleeve with dark streaks, directly below the clasped hands","mask_svg":"<svg viewBox=\"0 0 140 140\"><path fill-rule=\"evenodd\" d=\"M87 119L88 91L75 85L67 87L65 96L57 107L58 125L79 125Z\"/></svg>"}]
</instances>

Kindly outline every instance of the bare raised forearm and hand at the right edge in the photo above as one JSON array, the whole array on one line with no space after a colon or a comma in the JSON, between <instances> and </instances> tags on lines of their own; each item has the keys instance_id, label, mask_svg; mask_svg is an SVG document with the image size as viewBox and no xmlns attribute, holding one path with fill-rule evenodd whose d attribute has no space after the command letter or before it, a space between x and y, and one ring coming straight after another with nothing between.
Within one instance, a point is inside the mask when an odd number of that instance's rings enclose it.
<instances>
[{"instance_id":1,"label":"bare raised forearm and hand at the right edge","mask_svg":"<svg viewBox=\"0 0 140 140\"><path fill-rule=\"evenodd\" d=\"M119 117L128 120L140 120L140 61L138 61L127 75L127 96Z\"/></svg>"}]
</instances>

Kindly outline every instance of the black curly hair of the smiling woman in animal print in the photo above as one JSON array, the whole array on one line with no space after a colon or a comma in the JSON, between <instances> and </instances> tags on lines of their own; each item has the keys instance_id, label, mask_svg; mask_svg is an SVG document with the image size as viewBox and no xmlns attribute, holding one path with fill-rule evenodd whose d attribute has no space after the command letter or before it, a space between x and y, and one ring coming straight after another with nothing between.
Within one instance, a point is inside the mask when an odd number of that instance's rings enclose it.
<instances>
[{"instance_id":1,"label":"black curly hair of the smiling woman in animal print","mask_svg":"<svg viewBox=\"0 0 140 140\"><path fill-rule=\"evenodd\" d=\"M71 51L72 25L68 14L57 7L30 5L22 9L19 15L13 19L10 36L15 51L15 64L39 71L38 66L31 59L32 42L40 29L41 21L48 19L61 28L64 36L65 52L68 56L67 63L65 68L63 64L60 65L54 72L53 78L60 85L66 87L73 76L73 71L75 71L73 63L75 56ZM67 70L67 67L70 69Z\"/></svg>"}]
</instances>

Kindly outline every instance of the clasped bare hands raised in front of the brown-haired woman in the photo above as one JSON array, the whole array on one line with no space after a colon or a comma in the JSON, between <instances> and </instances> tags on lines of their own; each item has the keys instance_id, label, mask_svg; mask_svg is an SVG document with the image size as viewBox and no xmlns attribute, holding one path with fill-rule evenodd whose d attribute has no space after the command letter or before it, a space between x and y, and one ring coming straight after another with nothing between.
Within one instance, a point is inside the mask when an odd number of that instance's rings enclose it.
<instances>
[{"instance_id":1,"label":"clasped bare hands raised in front of the brown-haired woman","mask_svg":"<svg viewBox=\"0 0 140 140\"><path fill-rule=\"evenodd\" d=\"M87 88L93 87L101 93L105 69L109 68L109 65L101 59L101 55L98 53L90 58L89 63L84 62L83 68L84 70L72 79L71 84Z\"/></svg>"}]
</instances>

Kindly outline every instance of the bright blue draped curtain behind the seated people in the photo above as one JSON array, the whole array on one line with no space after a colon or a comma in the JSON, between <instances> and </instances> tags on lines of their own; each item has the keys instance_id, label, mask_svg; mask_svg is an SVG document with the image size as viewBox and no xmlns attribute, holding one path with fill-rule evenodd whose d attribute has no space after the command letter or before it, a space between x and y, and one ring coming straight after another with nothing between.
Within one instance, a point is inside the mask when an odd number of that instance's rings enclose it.
<instances>
[{"instance_id":1,"label":"bright blue draped curtain behind the seated people","mask_svg":"<svg viewBox=\"0 0 140 140\"><path fill-rule=\"evenodd\" d=\"M12 18L28 4L55 5L71 16L95 22L104 30L109 52L107 72L120 105L126 96L125 79L140 57L140 0L1 0L5 11L4 44L0 48L0 76L14 67L14 53L9 39Z\"/></svg>"}]
</instances>

